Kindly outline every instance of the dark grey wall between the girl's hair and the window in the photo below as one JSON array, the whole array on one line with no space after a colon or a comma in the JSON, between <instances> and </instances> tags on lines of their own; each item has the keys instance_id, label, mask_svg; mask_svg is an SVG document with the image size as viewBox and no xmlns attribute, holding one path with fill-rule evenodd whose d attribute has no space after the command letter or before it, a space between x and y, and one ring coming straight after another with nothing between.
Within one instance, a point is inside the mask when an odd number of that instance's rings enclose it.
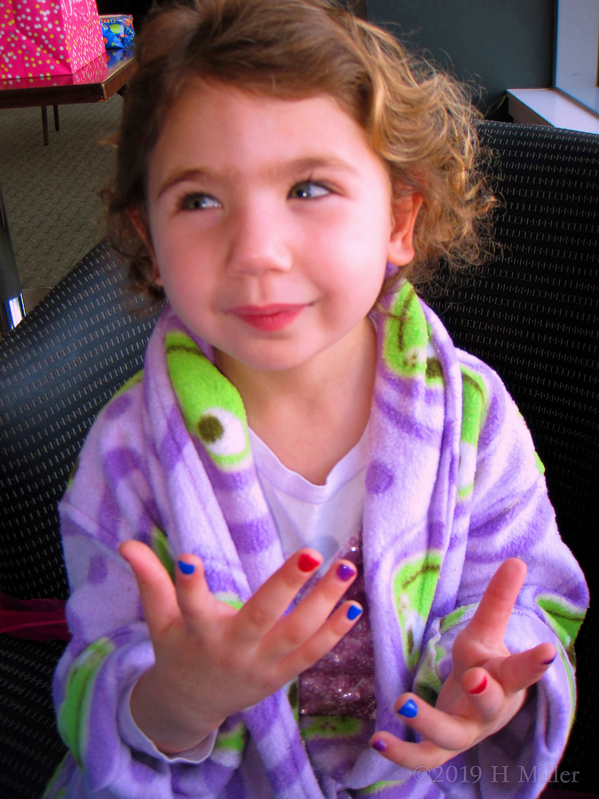
<instances>
[{"instance_id":1,"label":"dark grey wall between the girl's hair and the window","mask_svg":"<svg viewBox=\"0 0 599 799\"><path fill-rule=\"evenodd\" d=\"M411 48L430 50L462 80L482 85L488 108L506 89L552 81L553 0L367 0L368 19ZM393 24L395 23L395 24Z\"/></svg>"}]
</instances>

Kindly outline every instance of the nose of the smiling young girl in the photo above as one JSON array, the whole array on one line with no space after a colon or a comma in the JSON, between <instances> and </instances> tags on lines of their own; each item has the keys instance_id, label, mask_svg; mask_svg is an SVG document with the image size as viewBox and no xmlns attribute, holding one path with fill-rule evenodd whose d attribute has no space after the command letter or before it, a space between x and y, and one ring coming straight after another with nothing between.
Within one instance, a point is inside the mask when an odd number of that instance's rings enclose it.
<instances>
[{"instance_id":1,"label":"nose of the smiling young girl","mask_svg":"<svg viewBox=\"0 0 599 799\"><path fill-rule=\"evenodd\" d=\"M292 268L284 209L275 202L254 198L236 209L229 224L229 275L259 276L266 272L288 272Z\"/></svg>"}]
</instances>

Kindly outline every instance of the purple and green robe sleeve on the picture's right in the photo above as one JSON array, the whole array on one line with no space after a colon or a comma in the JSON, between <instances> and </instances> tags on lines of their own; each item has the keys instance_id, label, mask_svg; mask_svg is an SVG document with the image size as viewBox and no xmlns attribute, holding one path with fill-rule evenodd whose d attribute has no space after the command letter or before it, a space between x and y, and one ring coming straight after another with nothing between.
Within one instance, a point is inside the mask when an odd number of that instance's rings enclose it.
<instances>
[{"instance_id":1,"label":"purple and green robe sleeve on the picture's right","mask_svg":"<svg viewBox=\"0 0 599 799\"><path fill-rule=\"evenodd\" d=\"M474 486L470 499L458 499L470 502L470 521L462 545L455 547L461 551L462 576L454 608L428 627L414 690L434 703L451 670L454 639L474 614L490 578L507 558L524 560L526 582L506 630L506 646L515 653L550 642L557 657L520 712L498 733L443 766L438 785L452 789L453 769L447 776L454 765L461 783L466 776L460 795L529 799L549 779L573 723L573 642L589 593L580 566L557 532L544 468L522 415L490 368L465 353L460 360L470 375L482 378L486 391Z\"/></svg>"}]
</instances>

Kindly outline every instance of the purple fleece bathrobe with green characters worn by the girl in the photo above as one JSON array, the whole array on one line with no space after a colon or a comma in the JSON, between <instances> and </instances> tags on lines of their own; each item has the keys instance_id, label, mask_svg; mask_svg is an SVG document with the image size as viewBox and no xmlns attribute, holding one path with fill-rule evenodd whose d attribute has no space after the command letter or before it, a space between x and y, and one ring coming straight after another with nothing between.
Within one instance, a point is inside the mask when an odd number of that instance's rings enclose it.
<instances>
[{"instance_id":1,"label":"purple fleece bathrobe with green characters worn by the girl","mask_svg":"<svg viewBox=\"0 0 599 799\"><path fill-rule=\"evenodd\" d=\"M211 348L167 309L143 375L98 416L61 503L73 639L54 698L70 751L47 799L530 799L541 792L573 721L573 639L588 604L585 580L557 533L542 464L501 380L454 348L410 284L391 310L395 316L375 319L362 533L376 720L314 718L300 732L280 690L228 718L198 765L149 757L119 737L119 698L152 665L153 649L118 544L149 544L169 570L180 553L196 553L212 592L237 606L283 561L240 396L212 364ZM410 738L395 698L415 690L434 703L455 635L514 555L528 574L506 645L513 652L557 646L534 698L500 732L435 772L434 782L367 745L356 749L366 723ZM324 746L353 754L331 757L336 765L327 771L326 757L317 757Z\"/></svg>"}]
</instances>

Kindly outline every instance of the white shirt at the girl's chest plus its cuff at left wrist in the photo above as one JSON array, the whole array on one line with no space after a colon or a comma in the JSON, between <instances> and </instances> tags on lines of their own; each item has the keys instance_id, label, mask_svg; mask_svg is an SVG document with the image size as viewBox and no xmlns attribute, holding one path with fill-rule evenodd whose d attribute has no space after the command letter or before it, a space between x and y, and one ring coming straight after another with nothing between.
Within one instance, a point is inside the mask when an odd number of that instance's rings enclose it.
<instances>
[{"instance_id":1,"label":"white shirt at the girl's chest plus its cuff at left wrist","mask_svg":"<svg viewBox=\"0 0 599 799\"><path fill-rule=\"evenodd\" d=\"M302 547L323 556L323 574L339 550L357 546L362 527L368 426L362 438L329 472L323 486L316 486L288 469L252 430L252 454L260 487L279 532L285 559ZM355 539L352 541L351 539ZM129 700L133 686L122 695L118 707L121 738L132 749L172 763L201 763L210 757L217 730L199 745L177 755L166 755L133 721Z\"/></svg>"}]
</instances>

